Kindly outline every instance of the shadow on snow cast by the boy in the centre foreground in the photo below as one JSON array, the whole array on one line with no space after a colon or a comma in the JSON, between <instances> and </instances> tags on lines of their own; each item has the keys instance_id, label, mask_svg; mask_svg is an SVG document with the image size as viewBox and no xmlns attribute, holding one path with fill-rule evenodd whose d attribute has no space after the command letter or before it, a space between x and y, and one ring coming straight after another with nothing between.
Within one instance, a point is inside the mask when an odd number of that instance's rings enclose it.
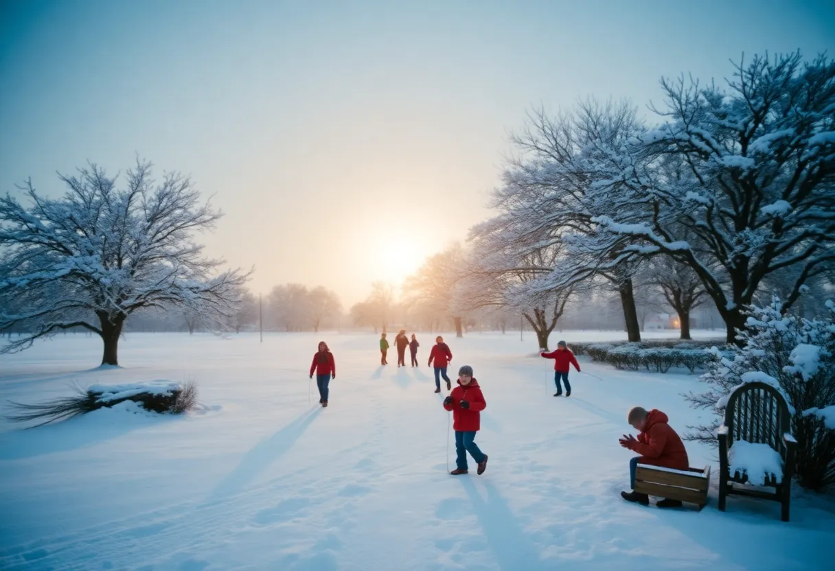
<instances>
[{"instance_id":1,"label":"shadow on snow cast by the boy in the centre foreground","mask_svg":"<svg viewBox=\"0 0 835 571\"><path fill-rule=\"evenodd\" d=\"M464 476L458 480L473 503L473 511L478 523L487 536L487 542L496 556L499 568L502 569L545 569L545 564L539 559L539 553L528 535L519 525L514 513L510 511L507 500L502 498L492 483L485 481L487 490L485 502L478 494L472 478Z\"/></svg>"}]
</instances>

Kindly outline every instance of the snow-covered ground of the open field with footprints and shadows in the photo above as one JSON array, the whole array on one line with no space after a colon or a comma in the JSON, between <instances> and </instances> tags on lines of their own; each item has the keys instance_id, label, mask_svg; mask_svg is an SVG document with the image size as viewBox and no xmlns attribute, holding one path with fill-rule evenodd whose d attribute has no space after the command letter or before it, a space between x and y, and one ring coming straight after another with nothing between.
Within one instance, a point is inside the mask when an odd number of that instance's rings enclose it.
<instances>
[{"instance_id":1,"label":"snow-covered ground of the open field with footprints and shadows","mask_svg":"<svg viewBox=\"0 0 835 571\"><path fill-rule=\"evenodd\" d=\"M326 409L307 379L320 338L337 360ZM572 396L554 398L553 361L534 356L530 333L448 338L451 372L472 365L483 387L476 442L490 457L483 476L449 476L431 338L419 336L422 366L400 370L378 366L370 334L132 334L110 370L91 370L101 345L84 335L0 356L3 403L67 396L72 382L190 378L202 403L187 417L121 407L33 430L0 421L0 568L763 570L835 558L830 497L796 493L791 523L746 498L720 513L715 488L701 513L625 503L626 411L660 408L683 432L699 413L680 393L697 377L580 357L600 379L572 371ZM691 465L714 461L687 448Z\"/></svg>"}]
</instances>

